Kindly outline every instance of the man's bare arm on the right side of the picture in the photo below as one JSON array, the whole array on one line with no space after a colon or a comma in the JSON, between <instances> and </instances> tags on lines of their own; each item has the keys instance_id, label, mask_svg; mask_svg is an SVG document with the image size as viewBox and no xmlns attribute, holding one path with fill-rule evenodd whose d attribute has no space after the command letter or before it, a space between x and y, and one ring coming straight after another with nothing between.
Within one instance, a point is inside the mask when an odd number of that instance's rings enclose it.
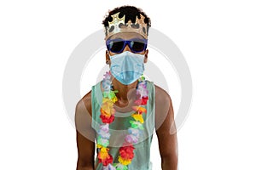
<instances>
[{"instance_id":1,"label":"man's bare arm on the right side of the picture","mask_svg":"<svg viewBox=\"0 0 256 170\"><path fill-rule=\"evenodd\" d=\"M172 99L162 88L155 87L155 125L159 141L161 167L177 170L177 131L174 122Z\"/></svg>"}]
</instances>

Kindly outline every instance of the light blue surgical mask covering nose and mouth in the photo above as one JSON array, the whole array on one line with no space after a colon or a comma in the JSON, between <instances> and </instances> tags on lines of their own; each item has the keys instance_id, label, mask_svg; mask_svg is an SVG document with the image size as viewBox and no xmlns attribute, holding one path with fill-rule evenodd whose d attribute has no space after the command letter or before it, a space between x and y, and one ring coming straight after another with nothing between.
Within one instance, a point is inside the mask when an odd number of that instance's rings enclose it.
<instances>
[{"instance_id":1,"label":"light blue surgical mask covering nose and mouth","mask_svg":"<svg viewBox=\"0 0 256 170\"><path fill-rule=\"evenodd\" d=\"M143 54L134 54L130 51L125 51L121 54L110 56L110 60L111 74L122 84L131 84L132 82L137 81L137 79L143 75Z\"/></svg>"}]
</instances>

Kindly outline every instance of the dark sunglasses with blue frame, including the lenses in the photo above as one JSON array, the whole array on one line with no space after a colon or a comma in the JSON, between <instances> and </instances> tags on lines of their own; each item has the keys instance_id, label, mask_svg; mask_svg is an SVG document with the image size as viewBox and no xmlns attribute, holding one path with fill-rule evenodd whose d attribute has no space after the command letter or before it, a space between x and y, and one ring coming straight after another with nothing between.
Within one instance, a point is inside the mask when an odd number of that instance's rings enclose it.
<instances>
[{"instance_id":1,"label":"dark sunglasses with blue frame, including the lenses","mask_svg":"<svg viewBox=\"0 0 256 170\"><path fill-rule=\"evenodd\" d=\"M147 48L148 40L139 39L139 38L124 40L119 38L119 39L107 40L106 42L108 51L111 51L112 53L123 52L126 44L128 44L132 53L140 53Z\"/></svg>"}]
</instances>

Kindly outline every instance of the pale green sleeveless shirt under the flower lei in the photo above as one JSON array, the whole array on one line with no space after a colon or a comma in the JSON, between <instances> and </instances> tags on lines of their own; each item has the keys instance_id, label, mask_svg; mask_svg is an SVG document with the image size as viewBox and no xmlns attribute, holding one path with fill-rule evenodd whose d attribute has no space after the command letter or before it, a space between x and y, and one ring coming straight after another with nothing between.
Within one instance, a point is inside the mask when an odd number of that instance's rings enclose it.
<instances>
[{"instance_id":1,"label":"pale green sleeveless shirt under the flower lei","mask_svg":"<svg viewBox=\"0 0 256 170\"><path fill-rule=\"evenodd\" d=\"M102 105L102 82L96 83L95 86L91 88L91 111L92 111L92 122L91 127L96 131L96 138L98 137L99 126L102 124L101 115L101 105ZM152 142L152 137L154 133L154 106L155 106L155 91L154 82L147 81L148 89L148 102L145 108L147 109L147 114L143 113L143 130L140 133L139 141L137 144L133 144L134 157L127 167L129 170L150 170L150 146ZM129 112L118 112L114 114L114 121L109 124L109 133L111 137L109 139L108 148L109 154L113 156L113 163L119 163L119 147L125 141L125 135L128 133L128 128L131 127L131 120L134 120L131 115L134 111ZM99 149L96 149L98 153ZM102 163L96 157L95 160L96 170L102 170Z\"/></svg>"}]
</instances>

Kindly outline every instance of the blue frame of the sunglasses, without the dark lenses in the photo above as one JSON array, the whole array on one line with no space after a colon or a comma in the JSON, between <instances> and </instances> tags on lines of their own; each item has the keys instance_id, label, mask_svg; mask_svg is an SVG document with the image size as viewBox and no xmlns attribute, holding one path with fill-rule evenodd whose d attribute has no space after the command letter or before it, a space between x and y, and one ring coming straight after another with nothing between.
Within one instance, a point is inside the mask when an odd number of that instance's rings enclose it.
<instances>
[{"instance_id":1,"label":"blue frame of the sunglasses, without the dark lenses","mask_svg":"<svg viewBox=\"0 0 256 170\"><path fill-rule=\"evenodd\" d=\"M123 48L121 48L118 52L113 52L110 49L110 42L125 42L125 43L123 45ZM135 50L133 50L133 48L131 47L131 42L142 42L142 43L144 43L143 50L142 51L135 51ZM129 48L131 49L132 53L141 53L144 50L146 50L147 45L148 45L148 39L142 39L142 38L132 38L132 39L129 39L129 40L124 40L124 39L121 39L121 38L109 39L109 40L106 41L106 45L107 45L108 51L110 51L112 53L121 53L121 52L123 52L126 45L129 46Z\"/></svg>"}]
</instances>

